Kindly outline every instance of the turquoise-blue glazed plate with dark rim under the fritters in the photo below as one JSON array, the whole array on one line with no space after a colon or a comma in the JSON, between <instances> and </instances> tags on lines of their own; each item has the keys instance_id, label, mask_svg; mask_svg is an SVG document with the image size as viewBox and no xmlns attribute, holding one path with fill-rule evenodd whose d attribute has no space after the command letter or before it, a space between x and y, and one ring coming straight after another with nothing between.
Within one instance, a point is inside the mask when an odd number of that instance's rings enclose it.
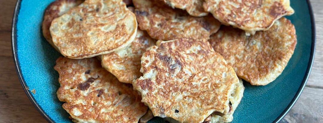
<instances>
[{"instance_id":1,"label":"turquoise-blue glazed plate with dark rim under the fritters","mask_svg":"<svg viewBox=\"0 0 323 123\"><path fill-rule=\"evenodd\" d=\"M48 122L68 123L68 113L57 98L58 74L53 69L61 56L41 33L44 10L54 0L18 0L13 19L12 49L16 70L27 96ZM236 122L278 122L294 105L310 73L315 52L315 24L307 0L291 0L295 14L287 18L296 27L297 46L283 73L266 86L245 85L244 97L234 112ZM35 89L36 93L31 91ZM155 117L150 123L164 122Z\"/></svg>"}]
</instances>

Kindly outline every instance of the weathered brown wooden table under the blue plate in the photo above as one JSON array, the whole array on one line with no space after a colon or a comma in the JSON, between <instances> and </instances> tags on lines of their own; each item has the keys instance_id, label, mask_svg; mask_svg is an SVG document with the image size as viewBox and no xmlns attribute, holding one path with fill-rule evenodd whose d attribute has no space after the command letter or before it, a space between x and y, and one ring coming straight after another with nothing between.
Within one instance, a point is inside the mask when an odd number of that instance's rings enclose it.
<instances>
[{"instance_id":1,"label":"weathered brown wooden table under the blue plate","mask_svg":"<svg viewBox=\"0 0 323 123\"><path fill-rule=\"evenodd\" d=\"M323 123L323 0L311 0L317 32L315 60L307 85L282 123ZM38 123L46 120L26 96L11 52L11 24L16 0L0 0L0 122Z\"/></svg>"}]
</instances>

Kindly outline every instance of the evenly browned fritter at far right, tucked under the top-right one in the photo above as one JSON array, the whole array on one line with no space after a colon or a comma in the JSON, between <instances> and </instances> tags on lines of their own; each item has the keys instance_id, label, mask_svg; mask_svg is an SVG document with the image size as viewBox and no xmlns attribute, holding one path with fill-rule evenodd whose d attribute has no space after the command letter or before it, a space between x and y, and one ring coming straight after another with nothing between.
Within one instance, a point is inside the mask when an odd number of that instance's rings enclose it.
<instances>
[{"instance_id":1,"label":"evenly browned fritter at far right, tucked under the top-right one","mask_svg":"<svg viewBox=\"0 0 323 123\"><path fill-rule=\"evenodd\" d=\"M251 85L267 85L284 70L297 43L294 25L281 18L267 31L245 36L244 31L222 26L209 40L238 77Z\"/></svg>"}]
</instances>

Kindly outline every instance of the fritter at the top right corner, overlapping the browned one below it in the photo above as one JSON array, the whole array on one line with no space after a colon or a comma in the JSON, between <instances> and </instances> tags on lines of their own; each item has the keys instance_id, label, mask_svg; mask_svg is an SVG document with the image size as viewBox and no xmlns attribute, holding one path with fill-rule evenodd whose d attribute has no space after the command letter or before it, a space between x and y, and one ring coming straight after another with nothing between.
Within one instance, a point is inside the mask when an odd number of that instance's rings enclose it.
<instances>
[{"instance_id":1,"label":"fritter at the top right corner, overlapping the browned one below it","mask_svg":"<svg viewBox=\"0 0 323 123\"><path fill-rule=\"evenodd\" d=\"M289 0L205 0L203 6L220 22L245 30L246 35L268 30L280 17L294 14Z\"/></svg>"}]
</instances>

